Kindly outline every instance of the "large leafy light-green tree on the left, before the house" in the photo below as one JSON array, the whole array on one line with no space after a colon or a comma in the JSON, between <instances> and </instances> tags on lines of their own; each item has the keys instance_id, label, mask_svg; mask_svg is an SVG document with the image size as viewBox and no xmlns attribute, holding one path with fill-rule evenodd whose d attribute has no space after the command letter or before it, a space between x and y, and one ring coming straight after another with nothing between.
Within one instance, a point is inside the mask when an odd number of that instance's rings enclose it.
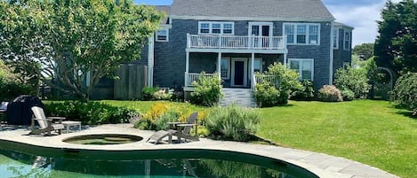
<instances>
[{"instance_id":1,"label":"large leafy light-green tree on the left, before the house","mask_svg":"<svg viewBox=\"0 0 417 178\"><path fill-rule=\"evenodd\" d=\"M83 99L121 62L140 58L163 17L132 0L1 1L0 8L0 57Z\"/></svg>"}]
</instances>

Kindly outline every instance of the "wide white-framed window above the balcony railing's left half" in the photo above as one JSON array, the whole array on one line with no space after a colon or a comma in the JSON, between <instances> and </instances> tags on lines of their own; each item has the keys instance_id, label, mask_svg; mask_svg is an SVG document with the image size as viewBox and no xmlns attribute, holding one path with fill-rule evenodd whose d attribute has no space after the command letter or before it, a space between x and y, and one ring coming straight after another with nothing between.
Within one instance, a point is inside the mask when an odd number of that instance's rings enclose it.
<instances>
[{"instance_id":1,"label":"wide white-framed window above the balcony railing's left half","mask_svg":"<svg viewBox=\"0 0 417 178\"><path fill-rule=\"evenodd\" d=\"M234 22L200 21L198 22L199 35L233 35Z\"/></svg>"}]
</instances>

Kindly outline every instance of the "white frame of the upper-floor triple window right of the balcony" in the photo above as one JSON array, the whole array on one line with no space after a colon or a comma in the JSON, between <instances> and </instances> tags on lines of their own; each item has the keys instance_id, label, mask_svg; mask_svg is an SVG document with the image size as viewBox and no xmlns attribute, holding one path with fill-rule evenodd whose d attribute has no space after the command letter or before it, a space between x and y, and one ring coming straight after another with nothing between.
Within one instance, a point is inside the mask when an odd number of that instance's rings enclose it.
<instances>
[{"instance_id":1,"label":"white frame of the upper-floor triple window right of the balcony","mask_svg":"<svg viewBox=\"0 0 417 178\"><path fill-rule=\"evenodd\" d=\"M320 45L320 31L321 26L319 23L284 23L283 24L283 35L285 35L285 26L293 26L293 43L288 43L291 45ZM298 26L306 26L306 43L297 43L297 29ZM310 26L317 26L317 43L309 43L310 42Z\"/></svg>"}]
</instances>

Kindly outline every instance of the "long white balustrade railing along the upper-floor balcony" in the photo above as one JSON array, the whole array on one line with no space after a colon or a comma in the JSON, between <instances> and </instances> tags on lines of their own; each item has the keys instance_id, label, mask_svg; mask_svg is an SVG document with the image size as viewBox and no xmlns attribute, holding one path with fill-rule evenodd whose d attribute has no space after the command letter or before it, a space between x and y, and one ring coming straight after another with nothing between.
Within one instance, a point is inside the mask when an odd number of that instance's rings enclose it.
<instances>
[{"instance_id":1,"label":"long white balustrade railing along the upper-floor balcony","mask_svg":"<svg viewBox=\"0 0 417 178\"><path fill-rule=\"evenodd\" d=\"M192 49L285 50L284 36L187 35Z\"/></svg>"}]
</instances>

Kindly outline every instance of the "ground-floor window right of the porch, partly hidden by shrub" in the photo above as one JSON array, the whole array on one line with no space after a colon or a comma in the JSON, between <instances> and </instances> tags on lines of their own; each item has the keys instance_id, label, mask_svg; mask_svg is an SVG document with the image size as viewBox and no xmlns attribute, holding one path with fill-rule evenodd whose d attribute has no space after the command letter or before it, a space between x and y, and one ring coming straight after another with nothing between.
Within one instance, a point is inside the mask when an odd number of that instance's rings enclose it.
<instances>
[{"instance_id":1,"label":"ground-floor window right of the porch, partly hidden by shrub","mask_svg":"<svg viewBox=\"0 0 417 178\"><path fill-rule=\"evenodd\" d=\"M313 81L314 78L314 59L312 58L290 58L290 69L299 74L300 81Z\"/></svg>"}]
</instances>

